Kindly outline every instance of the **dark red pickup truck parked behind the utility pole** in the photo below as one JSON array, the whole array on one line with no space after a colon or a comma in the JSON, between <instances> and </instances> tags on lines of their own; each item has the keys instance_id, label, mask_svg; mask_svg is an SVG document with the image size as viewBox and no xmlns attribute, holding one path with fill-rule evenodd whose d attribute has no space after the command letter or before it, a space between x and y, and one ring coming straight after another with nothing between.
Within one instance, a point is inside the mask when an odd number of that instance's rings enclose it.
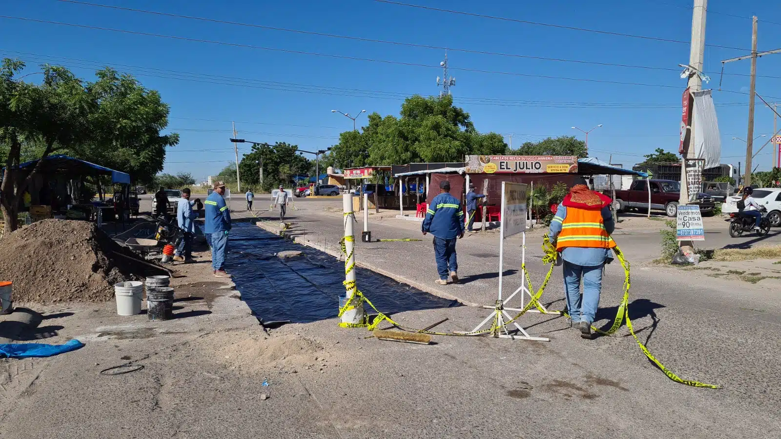
<instances>
[{"instance_id":1,"label":"dark red pickup truck parked behind the utility pole","mask_svg":"<svg viewBox=\"0 0 781 439\"><path fill-rule=\"evenodd\" d=\"M678 214L680 183L674 180L634 180L628 191L615 191L613 208L617 211L648 209L648 186L651 184L651 210L663 210L667 216ZM610 195L608 192L605 195ZM703 215L712 215L715 208L713 197L697 194L697 204Z\"/></svg>"}]
</instances>

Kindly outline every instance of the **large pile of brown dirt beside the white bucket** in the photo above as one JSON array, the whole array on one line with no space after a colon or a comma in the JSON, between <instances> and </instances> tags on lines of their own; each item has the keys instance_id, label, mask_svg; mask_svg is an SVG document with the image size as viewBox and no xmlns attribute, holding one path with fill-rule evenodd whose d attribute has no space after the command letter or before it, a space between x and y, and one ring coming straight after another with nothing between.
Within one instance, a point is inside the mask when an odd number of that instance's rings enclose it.
<instances>
[{"instance_id":1,"label":"large pile of brown dirt beside the white bucket","mask_svg":"<svg viewBox=\"0 0 781 439\"><path fill-rule=\"evenodd\" d=\"M112 252L134 255L94 223L45 219L0 239L0 280L14 302L102 302L117 282L161 274Z\"/></svg>"}]
</instances>

